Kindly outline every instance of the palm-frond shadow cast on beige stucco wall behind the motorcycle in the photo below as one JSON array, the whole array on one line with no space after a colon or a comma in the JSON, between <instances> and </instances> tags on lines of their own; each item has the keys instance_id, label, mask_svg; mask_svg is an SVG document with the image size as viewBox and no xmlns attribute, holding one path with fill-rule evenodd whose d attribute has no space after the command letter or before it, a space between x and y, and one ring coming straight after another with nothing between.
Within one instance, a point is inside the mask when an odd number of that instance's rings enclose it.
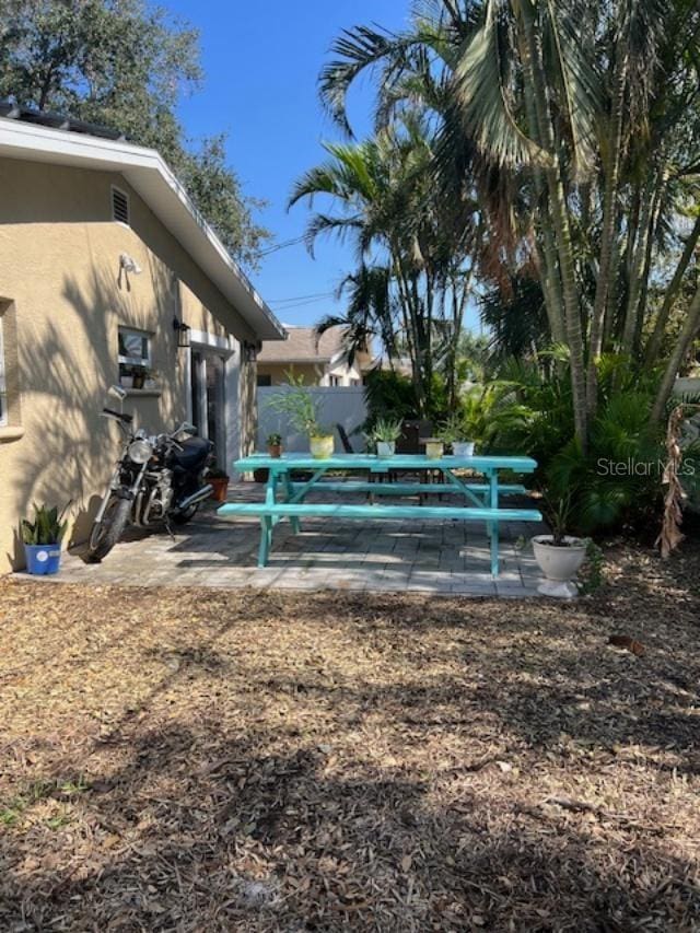
<instances>
[{"instance_id":1,"label":"palm-frond shadow cast on beige stucco wall behind the motorcycle","mask_svg":"<svg viewBox=\"0 0 700 933\"><path fill-rule=\"evenodd\" d=\"M60 506L71 501L70 544L88 536L119 450L117 424L100 415L105 405L114 404L107 389L118 378L119 324L154 333L153 363L162 374L160 399L129 399L125 410L133 410L136 422L150 431L170 425L184 410L178 392L183 371L170 327L177 280L166 267L150 265L143 276L151 278L147 318L147 292L124 276L119 280L117 271L93 270L89 285L66 277L59 313L42 322L40 336L27 333L27 325L23 328L20 372L25 436L10 470L10 501L18 510L9 555L14 569L24 564L19 522L32 502Z\"/></svg>"}]
</instances>

